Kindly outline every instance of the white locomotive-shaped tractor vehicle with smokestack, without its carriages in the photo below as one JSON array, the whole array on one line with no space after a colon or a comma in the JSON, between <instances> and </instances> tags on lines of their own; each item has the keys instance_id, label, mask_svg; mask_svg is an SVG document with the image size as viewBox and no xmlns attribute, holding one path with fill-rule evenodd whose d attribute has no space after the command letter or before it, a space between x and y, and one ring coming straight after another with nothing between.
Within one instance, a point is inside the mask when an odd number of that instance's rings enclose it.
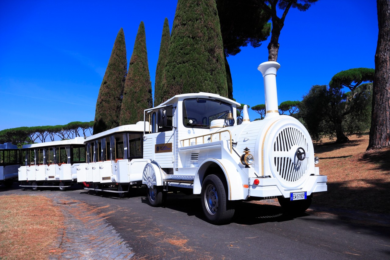
<instances>
[{"instance_id":1,"label":"white locomotive-shaped tractor vehicle with smokestack, without its carriages","mask_svg":"<svg viewBox=\"0 0 390 260\"><path fill-rule=\"evenodd\" d=\"M149 202L159 206L171 188L200 194L211 223L229 222L234 202L278 198L287 212L305 211L312 194L327 190L327 176L315 167L305 127L278 113L277 62L259 65L264 78L266 116L251 122L247 107L237 124L237 102L216 94L181 94L145 112L142 175Z\"/></svg>"}]
</instances>

